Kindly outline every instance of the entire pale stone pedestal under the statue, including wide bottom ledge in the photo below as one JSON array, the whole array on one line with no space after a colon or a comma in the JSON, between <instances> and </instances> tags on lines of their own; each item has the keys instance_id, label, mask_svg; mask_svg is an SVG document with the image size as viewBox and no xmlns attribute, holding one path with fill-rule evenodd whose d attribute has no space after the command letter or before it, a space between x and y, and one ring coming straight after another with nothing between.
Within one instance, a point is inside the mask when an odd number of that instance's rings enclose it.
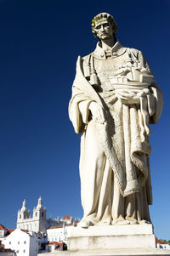
<instances>
[{"instance_id":1,"label":"entire pale stone pedestal under the statue, including wide bottom ledge","mask_svg":"<svg viewBox=\"0 0 170 256\"><path fill-rule=\"evenodd\" d=\"M40 254L38 254L40 255ZM68 250L44 256L170 256L169 250L156 248L152 225L72 227Z\"/></svg>"}]
</instances>

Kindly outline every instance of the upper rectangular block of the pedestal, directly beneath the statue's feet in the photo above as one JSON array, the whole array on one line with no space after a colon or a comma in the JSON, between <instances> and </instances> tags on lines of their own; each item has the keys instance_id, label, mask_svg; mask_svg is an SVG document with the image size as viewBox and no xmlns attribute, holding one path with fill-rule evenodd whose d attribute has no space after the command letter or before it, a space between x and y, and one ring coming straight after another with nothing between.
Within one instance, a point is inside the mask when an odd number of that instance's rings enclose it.
<instances>
[{"instance_id":1,"label":"upper rectangular block of the pedestal, directly beneath the statue's feet","mask_svg":"<svg viewBox=\"0 0 170 256\"><path fill-rule=\"evenodd\" d=\"M107 225L88 229L73 227L68 237L69 251L121 248L156 248L153 226Z\"/></svg>"}]
</instances>

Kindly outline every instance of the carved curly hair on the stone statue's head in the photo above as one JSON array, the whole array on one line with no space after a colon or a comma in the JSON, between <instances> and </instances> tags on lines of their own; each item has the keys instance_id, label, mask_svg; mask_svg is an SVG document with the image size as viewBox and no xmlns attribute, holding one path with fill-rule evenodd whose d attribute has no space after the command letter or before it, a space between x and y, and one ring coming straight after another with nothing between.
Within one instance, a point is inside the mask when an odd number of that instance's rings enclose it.
<instances>
[{"instance_id":1,"label":"carved curly hair on the stone statue's head","mask_svg":"<svg viewBox=\"0 0 170 256\"><path fill-rule=\"evenodd\" d=\"M94 19L92 20L92 32L94 34L94 37L98 38L97 33L94 30L94 28L96 26L96 22L98 22L99 20L104 20L104 19L111 22L111 26L112 26L112 29L113 29L113 35L116 36L117 25L116 25L116 21L114 20L113 16L111 16L111 14L101 13L101 14L96 15L94 17Z\"/></svg>"}]
</instances>

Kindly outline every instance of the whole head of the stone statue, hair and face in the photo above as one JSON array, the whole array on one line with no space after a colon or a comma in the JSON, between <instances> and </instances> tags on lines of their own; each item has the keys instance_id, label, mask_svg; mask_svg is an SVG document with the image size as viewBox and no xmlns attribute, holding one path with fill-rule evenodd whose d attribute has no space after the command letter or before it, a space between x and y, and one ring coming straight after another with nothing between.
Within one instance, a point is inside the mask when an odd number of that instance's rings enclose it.
<instances>
[{"instance_id":1,"label":"whole head of the stone statue, hair and face","mask_svg":"<svg viewBox=\"0 0 170 256\"><path fill-rule=\"evenodd\" d=\"M94 37L105 39L115 37L117 31L116 21L111 14L101 13L92 20L92 32Z\"/></svg>"}]
</instances>

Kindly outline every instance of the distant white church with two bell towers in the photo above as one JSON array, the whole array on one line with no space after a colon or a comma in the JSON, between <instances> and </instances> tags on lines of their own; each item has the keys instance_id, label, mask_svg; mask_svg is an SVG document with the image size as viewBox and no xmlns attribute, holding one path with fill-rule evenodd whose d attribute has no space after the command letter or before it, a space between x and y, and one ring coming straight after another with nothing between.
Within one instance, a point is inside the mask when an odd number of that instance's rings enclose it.
<instances>
[{"instance_id":1,"label":"distant white church with two bell towers","mask_svg":"<svg viewBox=\"0 0 170 256\"><path fill-rule=\"evenodd\" d=\"M32 218L30 211L26 208L26 200L24 200L22 208L18 211L17 229L18 228L46 233L46 208L42 206L41 196L38 199L37 208L33 209Z\"/></svg>"}]
</instances>

